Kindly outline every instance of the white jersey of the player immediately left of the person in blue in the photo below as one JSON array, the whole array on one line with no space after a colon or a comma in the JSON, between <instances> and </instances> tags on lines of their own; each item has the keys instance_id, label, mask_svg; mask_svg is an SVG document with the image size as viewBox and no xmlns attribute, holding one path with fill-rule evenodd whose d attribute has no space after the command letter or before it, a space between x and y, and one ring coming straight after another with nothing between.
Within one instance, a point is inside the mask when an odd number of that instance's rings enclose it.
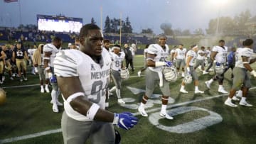
<instances>
[{"instance_id":1,"label":"white jersey of the player immediately left of the person in blue","mask_svg":"<svg viewBox=\"0 0 256 144\"><path fill-rule=\"evenodd\" d=\"M215 60L219 63L225 63L227 62L227 56L228 56L228 47L224 46L224 48L220 46L214 46L213 52L218 52L215 56Z\"/></svg>"}]
</instances>

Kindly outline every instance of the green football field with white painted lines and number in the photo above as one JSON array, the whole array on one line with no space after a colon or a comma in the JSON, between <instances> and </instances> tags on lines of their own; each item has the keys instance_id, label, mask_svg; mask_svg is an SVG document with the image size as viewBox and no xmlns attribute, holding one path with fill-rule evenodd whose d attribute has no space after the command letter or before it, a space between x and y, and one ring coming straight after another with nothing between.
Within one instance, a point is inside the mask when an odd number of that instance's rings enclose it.
<instances>
[{"instance_id":1,"label":"green football field with white painted lines and number","mask_svg":"<svg viewBox=\"0 0 256 144\"><path fill-rule=\"evenodd\" d=\"M218 82L213 82L211 89L204 84L213 77L213 72L203 75L198 70L199 89L205 94L194 94L193 84L186 85L188 94L179 93L182 79L178 77L176 82L170 83L171 98L167 107L174 120L159 117L159 88L155 89L146 104L149 117L143 117L137 112L145 89L144 76L137 77L137 71L144 64L143 59L142 55L137 55L134 60L135 73L122 82L121 95L127 104L117 104L115 94L110 97L110 111L131 111L139 118L137 126L129 131L117 128L122 135L122 143L256 143L254 77L247 98L254 105L252 107L225 106L228 94L217 92ZM230 70L226 72L223 84L227 91L232 85L230 74ZM7 101L0 106L0 143L63 143L60 130L63 107L59 106L60 113L53 113L50 94L40 92L38 75L28 74L28 82L19 82L17 78L11 81L6 76L1 87L7 92ZM59 100L63 101L60 97Z\"/></svg>"}]
</instances>

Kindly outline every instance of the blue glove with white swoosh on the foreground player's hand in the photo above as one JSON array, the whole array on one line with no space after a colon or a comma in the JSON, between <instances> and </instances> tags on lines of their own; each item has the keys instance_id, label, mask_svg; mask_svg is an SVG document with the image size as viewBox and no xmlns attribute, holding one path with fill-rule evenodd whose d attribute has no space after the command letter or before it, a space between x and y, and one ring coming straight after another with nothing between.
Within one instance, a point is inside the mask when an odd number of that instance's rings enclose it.
<instances>
[{"instance_id":1,"label":"blue glove with white swoosh on the foreground player's hand","mask_svg":"<svg viewBox=\"0 0 256 144\"><path fill-rule=\"evenodd\" d=\"M117 127L129 130L133 128L138 123L138 118L134 117L132 113L114 113L113 124Z\"/></svg>"}]
</instances>

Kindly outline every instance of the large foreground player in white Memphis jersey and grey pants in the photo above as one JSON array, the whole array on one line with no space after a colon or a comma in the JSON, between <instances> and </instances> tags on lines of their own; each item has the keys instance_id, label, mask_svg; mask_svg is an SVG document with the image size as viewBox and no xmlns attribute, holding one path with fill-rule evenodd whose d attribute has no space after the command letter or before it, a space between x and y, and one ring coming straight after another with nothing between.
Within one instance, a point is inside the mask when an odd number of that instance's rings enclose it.
<instances>
[{"instance_id":1,"label":"large foreground player in white Memphis jersey and grey pants","mask_svg":"<svg viewBox=\"0 0 256 144\"><path fill-rule=\"evenodd\" d=\"M114 143L114 125L126 130L137 124L132 113L105 110L110 77L110 56L102 48L103 35L94 24L82 26L80 50L61 50L54 61L63 94L61 128L65 144Z\"/></svg>"}]
</instances>

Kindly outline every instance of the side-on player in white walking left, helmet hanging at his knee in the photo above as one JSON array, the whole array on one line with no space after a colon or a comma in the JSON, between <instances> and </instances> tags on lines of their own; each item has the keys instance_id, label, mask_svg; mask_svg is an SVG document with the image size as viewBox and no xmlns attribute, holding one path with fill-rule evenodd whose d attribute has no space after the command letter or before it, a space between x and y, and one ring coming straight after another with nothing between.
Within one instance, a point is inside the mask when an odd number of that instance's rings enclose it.
<instances>
[{"instance_id":1,"label":"side-on player in white walking left, helmet hanging at his knee","mask_svg":"<svg viewBox=\"0 0 256 144\"><path fill-rule=\"evenodd\" d=\"M196 67L194 67L194 65L196 64L196 57L197 57L196 52L198 52L198 45L191 45L191 50L188 50L188 52L186 54L186 73L187 73L187 75L181 83L180 92L182 92L182 93L188 93L185 90L185 84L191 83L192 79L194 80L195 94L203 94L204 93L203 91L198 89L198 85L199 85L198 75L196 74ZM187 82L187 81L189 81L189 82Z\"/></svg>"}]
</instances>

